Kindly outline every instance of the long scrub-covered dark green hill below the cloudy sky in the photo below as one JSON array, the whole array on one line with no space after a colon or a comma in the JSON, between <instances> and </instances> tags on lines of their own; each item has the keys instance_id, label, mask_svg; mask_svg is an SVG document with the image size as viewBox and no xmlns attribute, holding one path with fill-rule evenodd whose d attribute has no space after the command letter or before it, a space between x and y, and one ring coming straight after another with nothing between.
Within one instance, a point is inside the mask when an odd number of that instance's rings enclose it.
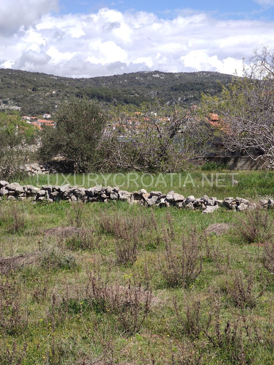
<instances>
[{"instance_id":1,"label":"long scrub-covered dark green hill below the cloudy sky","mask_svg":"<svg viewBox=\"0 0 274 365\"><path fill-rule=\"evenodd\" d=\"M18 109L26 115L52 113L70 96L87 95L104 105L153 100L198 104L201 92L217 95L231 75L217 72L134 72L92 78L70 78L39 72L0 69L0 110Z\"/></svg>"}]
</instances>

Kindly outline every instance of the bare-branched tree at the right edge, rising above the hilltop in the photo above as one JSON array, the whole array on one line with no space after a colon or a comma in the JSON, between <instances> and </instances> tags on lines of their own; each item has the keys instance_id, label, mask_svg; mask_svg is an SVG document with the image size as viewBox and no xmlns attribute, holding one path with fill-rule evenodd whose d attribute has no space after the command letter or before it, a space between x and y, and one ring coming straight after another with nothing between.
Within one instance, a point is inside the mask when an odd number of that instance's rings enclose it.
<instances>
[{"instance_id":1,"label":"bare-branched tree at the right edge, rising above the hilltop","mask_svg":"<svg viewBox=\"0 0 274 365\"><path fill-rule=\"evenodd\" d=\"M222 97L203 96L203 107L216 112L224 147L242 150L253 160L265 158L274 169L274 51L255 49L250 68L224 87Z\"/></svg>"}]
</instances>

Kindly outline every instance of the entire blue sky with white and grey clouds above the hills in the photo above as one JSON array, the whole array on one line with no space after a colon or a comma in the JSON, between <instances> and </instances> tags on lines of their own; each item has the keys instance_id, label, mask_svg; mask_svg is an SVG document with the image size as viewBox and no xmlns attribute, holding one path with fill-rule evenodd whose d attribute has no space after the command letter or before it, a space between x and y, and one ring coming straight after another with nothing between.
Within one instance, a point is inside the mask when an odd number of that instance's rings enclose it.
<instances>
[{"instance_id":1,"label":"entire blue sky with white and grey clouds above the hills","mask_svg":"<svg viewBox=\"0 0 274 365\"><path fill-rule=\"evenodd\" d=\"M274 0L0 3L0 68L67 77L240 75L262 45L274 49Z\"/></svg>"}]
</instances>

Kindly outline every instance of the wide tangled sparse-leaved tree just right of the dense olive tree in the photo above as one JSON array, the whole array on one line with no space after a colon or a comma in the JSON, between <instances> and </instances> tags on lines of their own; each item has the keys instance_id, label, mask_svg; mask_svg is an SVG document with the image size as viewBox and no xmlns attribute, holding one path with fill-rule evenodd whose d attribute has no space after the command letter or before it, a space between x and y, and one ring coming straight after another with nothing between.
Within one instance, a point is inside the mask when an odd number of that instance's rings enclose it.
<instances>
[{"instance_id":1,"label":"wide tangled sparse-leaved tree just right of the dense olive tree","mask_svg":"<svg viewBox=\"0 0 274 365\"><path fill-rule=\"evenodd\" d=\"M113 108L101 144L103 169L174 172L205 155L197 112L159 101Z\"/></svg>"}]
</instances>

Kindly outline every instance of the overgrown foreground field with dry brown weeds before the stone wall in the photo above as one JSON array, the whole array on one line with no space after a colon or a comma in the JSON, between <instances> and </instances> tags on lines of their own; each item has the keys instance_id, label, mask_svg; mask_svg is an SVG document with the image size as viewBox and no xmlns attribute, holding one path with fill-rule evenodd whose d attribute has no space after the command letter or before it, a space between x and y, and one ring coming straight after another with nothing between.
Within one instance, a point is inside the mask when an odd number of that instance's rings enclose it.
<instances>
[{"instance_id":1,"label":"overgrown foreground field with dry brown weeds before the stone wall","mask_svg":"<svg viewBox=\"0 0 274 365\"><path fill-rule=\"evenodd\" d=\"M0 363L273 365L273 213L2 200Z\"/></svg>"}]
</instances>

